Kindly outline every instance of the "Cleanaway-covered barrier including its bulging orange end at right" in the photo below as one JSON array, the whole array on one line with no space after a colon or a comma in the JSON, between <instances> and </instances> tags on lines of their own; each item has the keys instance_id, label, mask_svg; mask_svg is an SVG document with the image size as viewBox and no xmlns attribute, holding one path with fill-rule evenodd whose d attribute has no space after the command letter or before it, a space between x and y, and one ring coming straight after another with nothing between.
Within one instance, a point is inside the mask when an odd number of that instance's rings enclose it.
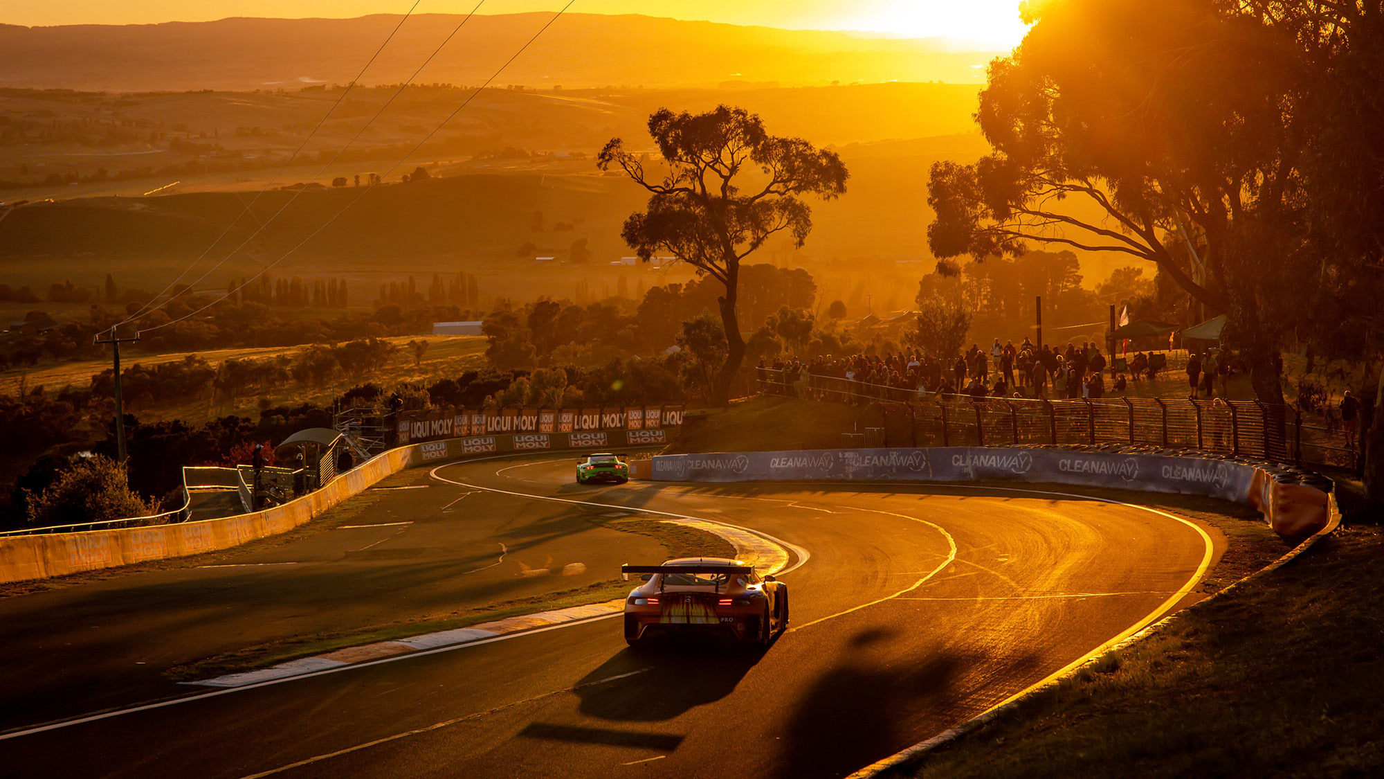
<instances>
[{"instance_id":1,"label":"Cleanaway-covered barrier including its bulging orange end at right","mask_svg":"<svg viewBox=\"0 0 1384 779\"><path fill-rule=\"evenodd\" d=\"M1019 481L1204 495L1254 506L1276 532L1330 520L1330 480L1287 466L1118 449L937 446L664 455L631 463L653 481Z\"/></svg>"}]
</instances>

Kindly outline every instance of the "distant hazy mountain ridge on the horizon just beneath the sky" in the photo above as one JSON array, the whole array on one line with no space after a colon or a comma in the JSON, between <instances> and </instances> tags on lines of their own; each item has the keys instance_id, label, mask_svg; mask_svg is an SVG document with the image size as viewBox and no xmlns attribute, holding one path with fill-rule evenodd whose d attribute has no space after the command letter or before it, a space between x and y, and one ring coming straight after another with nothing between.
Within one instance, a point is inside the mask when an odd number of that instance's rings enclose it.
<instances>
[{"instance_id":1,"label":"distant hazy mountain ridge on the horizon just beneath the sky","mask_svg":"<svg viewBox=\"0 0 1384 779\"><path fill-rule=\"evenodd\" d=\"M551 14L476 15L418 83L479 85ZM396 83L461 17L419 14L363 78ZM0 86L151 91L277 89L346 83L399 24L356 19L256 19L158 25L0 26ZM695 51L696 55L686 55ZM871 40L644 15L563 15L500 85L714 86L945 80L980 83L994 53L949 51L938 42Z\"/></svg>"}]
</instances>

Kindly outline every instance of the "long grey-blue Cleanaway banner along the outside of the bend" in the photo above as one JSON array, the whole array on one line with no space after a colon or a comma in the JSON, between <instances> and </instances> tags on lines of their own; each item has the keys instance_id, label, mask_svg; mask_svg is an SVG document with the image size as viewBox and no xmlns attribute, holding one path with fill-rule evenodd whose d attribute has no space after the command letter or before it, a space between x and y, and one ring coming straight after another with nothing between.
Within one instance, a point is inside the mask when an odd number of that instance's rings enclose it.
<instances>
[{"instance_id":1,"label":"long grey-blue Cleanaway banner along the outside of the bend","mask_svg":"<svg viewBox=\"0 0 1384 779\"><path fill-rule=\"evenodd\" d=\"M1255 469L1222 460L1059 449L815 449L653 457L656 481L1027 481L1244 502Z\"/></svg>"}]
</instances>

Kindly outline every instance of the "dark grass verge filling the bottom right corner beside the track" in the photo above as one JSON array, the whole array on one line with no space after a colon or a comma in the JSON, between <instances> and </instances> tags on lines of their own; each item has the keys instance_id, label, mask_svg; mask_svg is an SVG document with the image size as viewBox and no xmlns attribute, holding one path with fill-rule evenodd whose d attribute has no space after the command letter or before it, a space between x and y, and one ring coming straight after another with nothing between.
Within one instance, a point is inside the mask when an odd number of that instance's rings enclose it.
<instances>
[{"instance_id":1,"label":"dark grass verge filling the bottom right corner beside the track","mask_svg":"<svg viewBox=\"0 0 1384 779\"><path fill-rule=\"evenodd\" d=\"M1312 552L934 753L918 778L1374 776L1384 532Z\"/></svg>"}]
</instances>

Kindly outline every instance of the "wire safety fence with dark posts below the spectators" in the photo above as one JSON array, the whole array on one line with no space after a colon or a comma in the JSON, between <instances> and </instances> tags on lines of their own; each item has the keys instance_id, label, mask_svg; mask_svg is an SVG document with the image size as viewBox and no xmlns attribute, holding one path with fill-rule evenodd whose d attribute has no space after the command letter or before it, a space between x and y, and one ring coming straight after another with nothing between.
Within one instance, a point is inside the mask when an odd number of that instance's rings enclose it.
<instances>
[{"instance_id":1,"label":"wire safety fence with dark posts below the spectators","mask_svg":"<svg viewBox=\"0 0 1384 779\"><path fill-rule=\"evenodd\" d=\"M1045 399L943 395L851 378L758 369L758 391L854 405L879 403L883 421L847 441L858 446L1050 446L1124 444L1354 469L1344 432L1301 409L1258 401Z\"/></svg>"}]
</instances>

